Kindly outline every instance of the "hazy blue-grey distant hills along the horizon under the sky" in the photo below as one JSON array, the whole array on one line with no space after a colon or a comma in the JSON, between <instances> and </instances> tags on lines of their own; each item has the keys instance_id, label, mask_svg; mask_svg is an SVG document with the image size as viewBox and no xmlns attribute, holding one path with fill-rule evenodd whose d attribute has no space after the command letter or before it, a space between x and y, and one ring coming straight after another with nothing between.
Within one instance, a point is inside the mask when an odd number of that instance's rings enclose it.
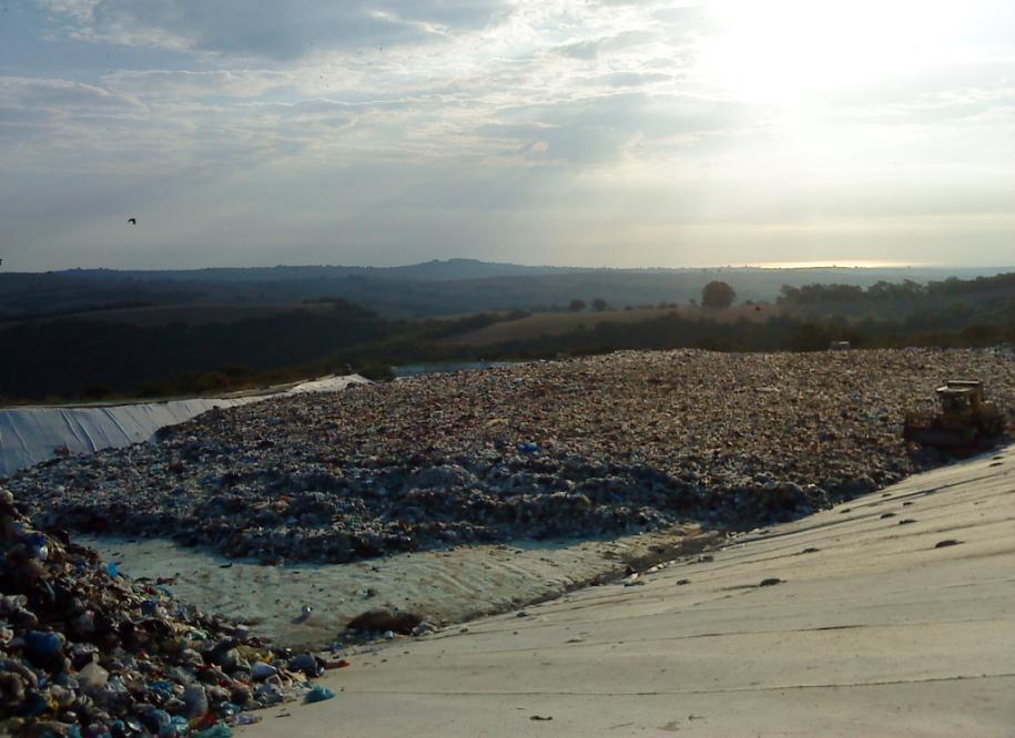
<instances>
[{"instance_id":1,"label":"hazy blue-grey distant hills along the horizon under the sky","mask_svg":"<svg viewBox=\"0 0 1015 738\"><path fill-rule=\"evenodd\" d=\"M971 279L1015 267L646 268L526 266L456 258L395 267L274 266L183 270L0 273L0 318L156 305L298 305L342 298L389 318L551 309L596 298L613 307L686 304L714 279L739 301L774 300L783 285L869 287L906 279Z\"/></svg>"}]
</instances>

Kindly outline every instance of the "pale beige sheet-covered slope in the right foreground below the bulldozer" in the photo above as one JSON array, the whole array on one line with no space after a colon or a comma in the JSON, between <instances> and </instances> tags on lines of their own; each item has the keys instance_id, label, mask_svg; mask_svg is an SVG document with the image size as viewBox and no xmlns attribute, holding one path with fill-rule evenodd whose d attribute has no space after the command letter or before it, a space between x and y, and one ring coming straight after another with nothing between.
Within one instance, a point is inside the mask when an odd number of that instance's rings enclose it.
<instances>
[{"instance_id":1,"label":"pale beige sheet-covered slope in the right foreground below the bulldozer","mask_svg":"<svg viewBox=\"0 0 1015 738\"><path fill-rule=\"evenodd\" d=\"M242 735L1015 735L1015 447L701 558L351 656Z\"/></svg>"}]
</instances>

